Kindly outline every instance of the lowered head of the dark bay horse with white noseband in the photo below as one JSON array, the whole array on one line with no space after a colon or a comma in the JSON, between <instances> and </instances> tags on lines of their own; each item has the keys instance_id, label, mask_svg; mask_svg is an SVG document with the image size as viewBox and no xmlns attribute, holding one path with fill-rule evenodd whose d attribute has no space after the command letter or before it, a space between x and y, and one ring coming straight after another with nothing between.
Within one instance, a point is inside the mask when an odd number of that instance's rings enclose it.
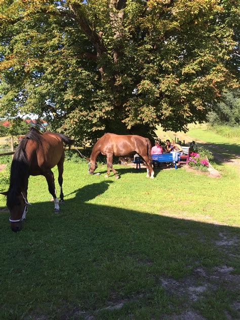
<instances>
[{"instance_id":1,"label":"lowered head of the dark bay horse with white noseband","mask_svg":"<svg viewBox=\"0 0 240 320\"><path fill-rule=\"evenodd\" d=\"M7 206L10 211L9 221L11 222L11 229L14 232L21 231L22 220L26 218L27 206L30 204L27 202L27 199L22 192L15 196L14 202L8 201L9 191L0 193L7 195Z\"/></svg>"}]
</instances>

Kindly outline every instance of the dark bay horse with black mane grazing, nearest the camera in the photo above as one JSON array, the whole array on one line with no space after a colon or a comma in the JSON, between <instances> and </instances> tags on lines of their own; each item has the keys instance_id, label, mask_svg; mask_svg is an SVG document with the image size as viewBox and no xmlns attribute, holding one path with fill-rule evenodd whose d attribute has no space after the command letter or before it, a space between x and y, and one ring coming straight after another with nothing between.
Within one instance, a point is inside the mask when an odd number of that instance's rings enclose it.
<instances>
[{"instance_id":1,"label":"dark bay horse with black mane grazing, nearest the camera","mask_svg":"<svg viewBox=\"0 0 240 320\"><path fill-rule=\"evenodd\" d=\"M31 128L22 138L14 154L10 186L7 192L7 206L10 210L11 228L17 232L21 230L22 220L27 212L27 188L29 176L43 175L47 182L49 192L54 198L54 209L60 210L59 200L56 196L54 175L51 169L58 166L58 183L60 185L60 202L63 202L62 174L64 162L64 145L71 144L73 140L59 133L45 132Z\"/></svg>"}]
</instances>

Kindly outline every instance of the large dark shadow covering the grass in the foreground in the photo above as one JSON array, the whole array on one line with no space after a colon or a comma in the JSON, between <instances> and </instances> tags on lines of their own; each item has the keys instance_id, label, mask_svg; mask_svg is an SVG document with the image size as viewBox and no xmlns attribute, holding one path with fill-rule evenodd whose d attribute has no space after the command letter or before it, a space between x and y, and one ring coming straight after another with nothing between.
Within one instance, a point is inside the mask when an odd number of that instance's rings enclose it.
<instances>
[{"instance_id":1,"label":"large dark shadow covering the grass in the foreground","mask_svg":"<svg viewBox=\"0 0 240 320\"><path fill-rule=\"evenodd\" d=\"M235 290L214 270L235 270L238 228L88 203L109 183L75 190L58 214L33 204L16 234L1 215L0 318L163 318L194 308L198 288Z\"/></svg>"}]
</instances>

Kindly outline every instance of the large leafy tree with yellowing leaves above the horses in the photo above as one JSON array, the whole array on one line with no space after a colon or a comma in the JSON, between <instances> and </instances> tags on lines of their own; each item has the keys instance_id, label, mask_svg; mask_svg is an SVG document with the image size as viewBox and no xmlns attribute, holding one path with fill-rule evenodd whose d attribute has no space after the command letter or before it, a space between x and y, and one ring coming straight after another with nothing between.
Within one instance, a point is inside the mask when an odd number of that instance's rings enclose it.
<instances>
[{"instance_id":1,"label":"large leafy tree with yellowing leaves above the horses","mask_svg":"<svg viewBox=\"0 0 240 320\"><path fill-rule=\"evenodd\" d=\"M203 122L236 87L237 1L4 0L0 116L85 143Z\"/></svg>"}]
</instances>

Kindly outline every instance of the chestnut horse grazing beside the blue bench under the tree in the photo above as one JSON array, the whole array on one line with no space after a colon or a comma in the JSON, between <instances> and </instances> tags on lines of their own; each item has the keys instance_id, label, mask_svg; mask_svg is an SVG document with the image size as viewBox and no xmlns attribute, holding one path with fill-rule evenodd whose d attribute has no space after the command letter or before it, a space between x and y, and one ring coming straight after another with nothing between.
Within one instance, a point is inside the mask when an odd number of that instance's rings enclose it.
<instances>
[{"instance_id":1,"label":"chestnut horse grazing beside the blue bench under the tree","mask_svg":"<svg viewBox=\"0 0 240 320\"><path fill-rule=\"evenodd\" d=\"M107 174L105 177L109 177L110 169L113 171L115 178L119 176L112 167L112 158L115 156L125 156L134 154L137 152L143 159L144 165L147 168L147 177L154 178L154 172L152 169L152 157L151 157L151 142L149 139L136 136L126 135L119 136L114 133L105 133L95 143L89 160L89 173L93 174L97 168L96 159L99 153L106 155L107 157Z\"/></svg>"}]
</instances>

